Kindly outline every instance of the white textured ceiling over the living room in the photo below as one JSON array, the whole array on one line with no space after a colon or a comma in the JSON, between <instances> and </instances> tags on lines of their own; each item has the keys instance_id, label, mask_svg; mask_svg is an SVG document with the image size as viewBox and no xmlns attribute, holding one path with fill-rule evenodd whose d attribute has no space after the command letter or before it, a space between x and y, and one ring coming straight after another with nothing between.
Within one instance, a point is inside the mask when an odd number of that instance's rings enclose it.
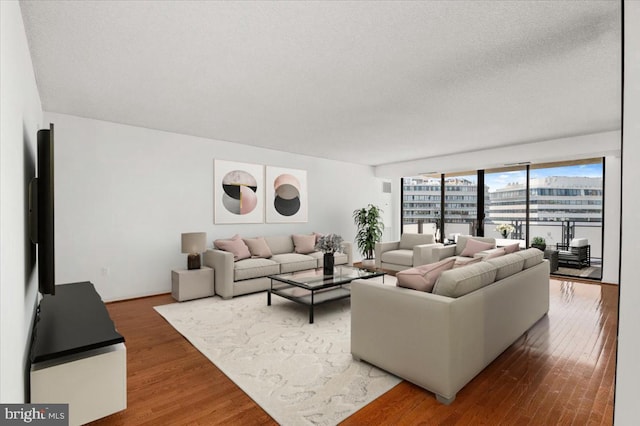
<instances>
[{"instance_id":1,"label":"white textured ceiling over the living room","mask_svg":"<svg viewBox=\"0 0 640 426\"><path fill-rule=\"evenodd\" d=\"M22 1L45 111L379 165L620 128L617 1Z\"/></svg>"}]
</instances>

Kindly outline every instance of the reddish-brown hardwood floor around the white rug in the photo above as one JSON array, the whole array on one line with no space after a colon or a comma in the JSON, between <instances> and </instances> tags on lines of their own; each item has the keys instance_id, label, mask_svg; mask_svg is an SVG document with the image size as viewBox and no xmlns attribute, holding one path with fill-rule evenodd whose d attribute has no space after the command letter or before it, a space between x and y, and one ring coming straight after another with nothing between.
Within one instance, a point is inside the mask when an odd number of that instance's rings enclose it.
<instances>
[{"instance_id":1,"label":"reddish-brown hardwood floor around the white rug","mask_svg":"<svg viewBox=\"0 0 640 426\"><path fill-rule=\"evenodd\" d=\"M551 308L450 406L402 382L344 425L611 425L618 287L551 280ZM153 306L108 304L125 336L128 408L92 424L276 424Z\"/></svg>"}]
</instances>

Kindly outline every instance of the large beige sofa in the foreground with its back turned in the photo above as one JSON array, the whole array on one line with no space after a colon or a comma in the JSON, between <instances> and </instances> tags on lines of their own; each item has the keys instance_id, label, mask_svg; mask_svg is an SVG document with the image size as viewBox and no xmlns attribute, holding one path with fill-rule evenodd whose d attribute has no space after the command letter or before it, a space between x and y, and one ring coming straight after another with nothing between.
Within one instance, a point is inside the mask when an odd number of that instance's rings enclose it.
<instances>
[{"instance_id":1,"label":"large beige sofa in the foreground with its back turned","mask_svg":"<svg viewBox=\"0 0 640 426\"><path fill-rule=\"evenodd\" d=\"M356 280L351 353L449 404L548 310L549 263L537 249L445 271L433 293Z\"/></svg>"}]
</instances>

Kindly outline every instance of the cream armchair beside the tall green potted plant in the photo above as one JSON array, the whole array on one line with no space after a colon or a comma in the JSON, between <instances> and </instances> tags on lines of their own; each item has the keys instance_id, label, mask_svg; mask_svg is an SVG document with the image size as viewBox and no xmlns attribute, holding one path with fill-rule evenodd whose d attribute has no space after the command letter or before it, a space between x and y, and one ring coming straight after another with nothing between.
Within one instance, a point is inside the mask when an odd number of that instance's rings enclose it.
<instances>
[{"instance_id":1,"label":"cream armchair beside the tall green potted plant","mask_svg":"<svg viewBox=\"0 0 640 426\"><path fill-rule=\"evenodd\" d=\"M400 241L376 243L376 268L402 271L433 263L431 250L441 246L433 234L402 234Z\"/></svg>"}]
</instances>

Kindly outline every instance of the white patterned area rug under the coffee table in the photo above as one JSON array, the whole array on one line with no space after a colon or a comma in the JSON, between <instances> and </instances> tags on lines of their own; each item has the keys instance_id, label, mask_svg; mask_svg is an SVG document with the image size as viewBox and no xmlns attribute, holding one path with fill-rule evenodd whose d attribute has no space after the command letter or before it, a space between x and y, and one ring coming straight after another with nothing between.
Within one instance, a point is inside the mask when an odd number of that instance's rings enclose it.
<instances>
[{"instance_id":1,"label":"white patterned area rug under the coffee table","mask_svg":"<svg viewBox=\"0 0 640 426\"><path fill-rule=\"evenodd\" d=\"M157 306L178 332L282 425L335 425L400 379L350 352L350 304L308 308L266 293Z\"/></svg>"}]
</instances>

